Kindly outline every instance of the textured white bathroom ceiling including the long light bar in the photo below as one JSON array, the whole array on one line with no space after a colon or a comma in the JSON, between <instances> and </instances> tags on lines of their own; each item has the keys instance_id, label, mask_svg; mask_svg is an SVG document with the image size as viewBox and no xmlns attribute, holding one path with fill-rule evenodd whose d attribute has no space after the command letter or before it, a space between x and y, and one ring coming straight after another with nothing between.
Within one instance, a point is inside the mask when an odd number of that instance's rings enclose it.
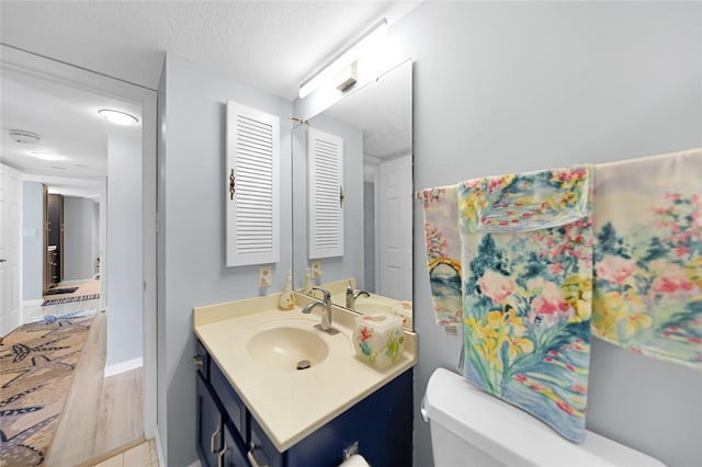
<instances>
[{"instance_id":1,"label":"textured white bathroom ceiling including the long light bar","mask_svg":"<svg viewBox=\"0 0 702 467\"><path fill-rule=\"evenodd\" d=\"M340 48L418 3L2 1L0 38L151 89L168 52L292 100Z\"/></svg>"}]
</instances>

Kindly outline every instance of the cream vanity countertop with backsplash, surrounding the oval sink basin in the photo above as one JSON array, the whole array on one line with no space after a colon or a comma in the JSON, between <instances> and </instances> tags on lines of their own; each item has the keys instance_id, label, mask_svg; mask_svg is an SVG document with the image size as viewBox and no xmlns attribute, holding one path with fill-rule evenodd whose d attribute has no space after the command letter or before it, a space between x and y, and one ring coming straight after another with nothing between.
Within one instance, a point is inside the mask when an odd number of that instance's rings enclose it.
<instances>
[{"instance_id":1,"label":"cream vanity countertop with backsplash, surrounding the oval sink basin","mask_svg":"<svg viewBox=\"0 0 702 467\"><path fill-rule=\"evenodd\" d=\"M405 352L393 365L377 369L355 357L351 343L358 315L332 307L336 335L317 331L319 307L303 315L308 297L296 294L292 310L278 308L279 295L194 309L194 331L217 366L282 453L324 426L417 363L417 334L405 331ZM315 332L328 356L303 371L275 371L248 353L254 334L275 327Z\"/></svg>"}]
</instances>

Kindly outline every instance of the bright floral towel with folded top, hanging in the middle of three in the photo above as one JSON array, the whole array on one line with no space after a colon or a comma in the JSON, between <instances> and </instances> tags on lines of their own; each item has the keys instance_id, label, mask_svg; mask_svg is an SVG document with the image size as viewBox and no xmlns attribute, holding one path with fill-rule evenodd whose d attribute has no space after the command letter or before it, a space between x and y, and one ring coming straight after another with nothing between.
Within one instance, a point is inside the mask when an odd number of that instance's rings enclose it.
<instances>
[{"instance_id":1,"label":"bright floral towel with folded top, hanging in the middle of three","mask_svg":"<svg viewBox=\"0 0 702 467\"><path fill-rule=\"evenodd\" d=\"M590 356L590 186L577 167L471 180L457 193L463 375L575 442Z\"/></svg>"}]
</instances>

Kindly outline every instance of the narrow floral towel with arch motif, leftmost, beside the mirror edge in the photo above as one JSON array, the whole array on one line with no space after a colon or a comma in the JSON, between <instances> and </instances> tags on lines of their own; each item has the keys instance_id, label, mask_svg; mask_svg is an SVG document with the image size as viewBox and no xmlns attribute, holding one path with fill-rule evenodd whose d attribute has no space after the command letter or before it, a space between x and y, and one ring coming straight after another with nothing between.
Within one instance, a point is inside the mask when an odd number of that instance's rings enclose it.
<instances>
[{"instance_id":1,"label":"narrow floral towel with arch motif, leftmost, beside the mirror edge","mask_svg":"<svg viewBox=\"0 0 702 467\"><path fill-rule=\"evenodd\" d=\"M461 324L461 239L456 185L427 189L424 206L427 267L437 324Z\"/></svg>"}]
</instances>

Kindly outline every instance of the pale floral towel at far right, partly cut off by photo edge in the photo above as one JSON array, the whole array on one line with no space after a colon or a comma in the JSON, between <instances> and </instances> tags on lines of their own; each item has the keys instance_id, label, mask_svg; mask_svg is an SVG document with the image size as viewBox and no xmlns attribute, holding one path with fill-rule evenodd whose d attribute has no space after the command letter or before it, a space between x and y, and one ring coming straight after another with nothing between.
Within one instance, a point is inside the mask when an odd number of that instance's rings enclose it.
<instances>
[{"instance_id":1,"label":"pale floral towel at far right, partly cut off by photo edge","mask_svg":"<svg viewBox=\"0 0 702 467\"><path fill-rule=\"evenodd\" d=\"M595 173L592 333L702 369L702 149Z\"/></svg>"}]
</instances>

